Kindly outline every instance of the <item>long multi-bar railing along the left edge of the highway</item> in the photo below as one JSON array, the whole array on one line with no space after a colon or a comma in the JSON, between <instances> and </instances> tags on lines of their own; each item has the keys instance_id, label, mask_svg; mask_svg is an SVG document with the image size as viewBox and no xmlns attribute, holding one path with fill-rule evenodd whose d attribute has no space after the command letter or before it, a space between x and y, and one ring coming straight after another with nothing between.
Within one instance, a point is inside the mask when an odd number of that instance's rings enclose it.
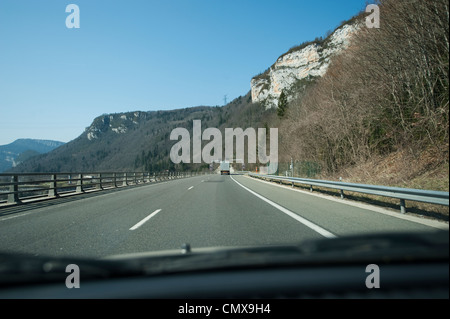
<instances>
[{"instance_id":1,"label":"long multi-bar railing along the left edge of the highway","mask_svg":"<svg viewBox=\"0 0 450 319\"><path fill-rule=\"evenodd\" d=\"M209 173L199 172L77 172L77 173L2 173L0 174L0 204L20 204L25 200L56 198L185 178Z\"/></svg>"}]
</instances>

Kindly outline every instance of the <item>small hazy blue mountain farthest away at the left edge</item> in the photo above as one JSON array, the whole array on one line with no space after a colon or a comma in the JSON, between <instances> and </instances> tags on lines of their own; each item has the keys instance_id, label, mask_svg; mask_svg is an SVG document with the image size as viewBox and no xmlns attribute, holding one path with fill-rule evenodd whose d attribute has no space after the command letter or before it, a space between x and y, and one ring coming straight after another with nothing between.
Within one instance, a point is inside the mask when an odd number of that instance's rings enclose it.
<instances>
[{"instance_id":1,"label":"small hazy blue mountain farthest away at the left edge","mask_svg":"<svg viewBox=\"0 0 450 319\"><path fill-rule=\"evenodd\" d=\"M22 138L0 145L0 172L11 169L35 155L48 153L63 144L53 140Z\"/></svg>"}]
</instances>

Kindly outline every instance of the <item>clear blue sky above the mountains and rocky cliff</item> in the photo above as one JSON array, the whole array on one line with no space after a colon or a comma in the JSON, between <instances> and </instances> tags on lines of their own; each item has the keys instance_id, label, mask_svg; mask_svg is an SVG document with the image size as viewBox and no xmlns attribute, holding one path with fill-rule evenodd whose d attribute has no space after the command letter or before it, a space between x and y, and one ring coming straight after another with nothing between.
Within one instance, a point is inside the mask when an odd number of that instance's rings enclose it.
<instances>
[{"instance_id":1,"label":"clear blue sky above the mountains and rocky cliff","mask_svg":"<svg viewBox=\"0 0 450 319\"><path fill-rule=\"evenodd\" d=\"M66 28L68 4L80 28ZM1 0L0 145L78 137L103 113L222 105L365 0Z\"/></svg>"}]
</instances>

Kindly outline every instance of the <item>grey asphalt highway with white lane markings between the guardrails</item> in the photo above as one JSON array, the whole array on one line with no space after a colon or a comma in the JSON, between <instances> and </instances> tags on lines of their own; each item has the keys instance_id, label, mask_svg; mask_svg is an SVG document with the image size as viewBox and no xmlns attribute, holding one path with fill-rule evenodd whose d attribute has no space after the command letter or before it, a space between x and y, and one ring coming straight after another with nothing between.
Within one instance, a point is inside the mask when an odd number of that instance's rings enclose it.
<instances>
[{"instance_id":1,"label":"grey asphalt highway with white lane markings between the guardrails","mask_svg":"<svg viewBox=\"0 0 450 319\"><path fill-rule=\"evenodd\" d=\"M196 247L292 244L448 224L383 213L246 176L206 175L0 210L0 252L100 258Z\"/></svg>"}]
</instances>

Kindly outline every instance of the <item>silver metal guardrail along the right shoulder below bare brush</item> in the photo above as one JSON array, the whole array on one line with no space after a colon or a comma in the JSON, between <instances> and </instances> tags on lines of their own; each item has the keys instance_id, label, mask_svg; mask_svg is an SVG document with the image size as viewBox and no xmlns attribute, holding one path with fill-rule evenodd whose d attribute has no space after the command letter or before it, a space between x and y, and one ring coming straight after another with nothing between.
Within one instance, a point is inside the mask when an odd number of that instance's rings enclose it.
<instances>
[{"instance_id":1,"label":"silver metal guardrail along the right shoulder below bare brush","mask_svg":"<svg viewBox=\"0 0 450 319\"><path fill-rule=\"evenodd\" d=\"M280 183L283 181L288 182L292 184L292 187L294 187L294 184L296 183L307 185L310 187L311 192L313 191L313 186L338 189L341 191L341 198L344 198L344 191L396 198L400 200L400 211L403 214L406 213L405 200L449 206L448 192L413 189L413 188L389 187L380 185L344 183L340 181L326 181L326 180L298 178L298 177L262 175L255 173L249 173L248 175L270 181L279 181Z\"/></svg>"}]
</instances>

